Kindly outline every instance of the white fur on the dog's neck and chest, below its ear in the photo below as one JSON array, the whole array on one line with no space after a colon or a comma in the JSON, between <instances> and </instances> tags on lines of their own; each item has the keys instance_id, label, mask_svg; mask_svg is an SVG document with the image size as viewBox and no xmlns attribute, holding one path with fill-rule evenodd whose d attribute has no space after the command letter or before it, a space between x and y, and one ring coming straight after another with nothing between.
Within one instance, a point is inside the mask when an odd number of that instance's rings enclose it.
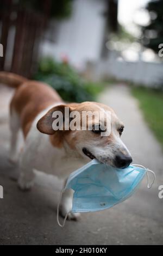
<instances>
[{"instance_id":1,"label":"white fur on the dog's neck and chest, below its ear","mask_svg":"<svg viewBox=\"0 0 163 256\"><path fill-rule=\"evenodd\" d=\"M49 136L37 130L37 121L47 111L48 109L41 112L34 120L27 136L24 154L32 168L56 175L59 178L67 178L71 172L82 167L86 162L82 157L80 159L73 154L67 155L64 148L55 148L51 144Z\"/></svg>"}]
</instances>

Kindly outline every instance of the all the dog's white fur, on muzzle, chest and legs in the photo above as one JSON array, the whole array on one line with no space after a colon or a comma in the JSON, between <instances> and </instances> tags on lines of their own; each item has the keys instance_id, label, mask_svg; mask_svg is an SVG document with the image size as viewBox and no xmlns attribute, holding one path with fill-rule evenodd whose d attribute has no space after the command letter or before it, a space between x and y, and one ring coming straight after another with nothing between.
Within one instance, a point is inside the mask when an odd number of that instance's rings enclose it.
<instances>
[{"instance_id":1,"label":"all the dog's white fur, on muzzle, chest and legs","mask_svg":"<svg viewBox=\"0 0 163 256\"><path fill-rule=\"evenodd\" d=\"M60 105L58 103L57 105ZM67 179L71 172L82 167L85 163L91 161L84 155L82 149L86 147L90 152L95 155L99 161L113 164L114 155L118 153L118 150L124 149L129 154L128 149L123 144L118 135L116 125L112 125L112 133L114 134L114 143L103 147L99 146L99 140L93 139L90 141L89 135L85 138L85 141L77 142L76 150L70 149L68 144L64 142L64 147L59 149L55 148L49 141L49 136L39 132L36 128L37 121L47 113L49 109L54 106L49 106L42 111L33 121L32 127L27 135L26 142L24 144L23 151L20 156L20 177L18 179L18 185L22 190L28 190L34 184L34 169L42 172L53 174L60 179ZM101 109L101 108L99 108ZM117 119L118 120L118 119ZM115 122L116 123L116 122ZM16 159L16 141L18 130L20 129L20 122L16 113L12 112L11 120L11 151L10 157L12 160ZM91 131L88 131L91 132ZM74 134L76 131L74 131ZM72 135L73 136L73 135ZM72 208L72 192L65 192L61 202L61 214L66 215ZM69 218L77 218L79 214L68 215Z\"/></svg>"}]
</instances>

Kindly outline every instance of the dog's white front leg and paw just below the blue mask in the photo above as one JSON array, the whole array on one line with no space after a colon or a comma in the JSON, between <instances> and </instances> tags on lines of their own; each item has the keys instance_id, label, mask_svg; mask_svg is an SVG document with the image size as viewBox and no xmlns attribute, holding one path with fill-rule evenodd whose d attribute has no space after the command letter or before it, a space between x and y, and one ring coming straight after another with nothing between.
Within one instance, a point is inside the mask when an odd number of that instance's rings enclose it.
<instances>
[{"instance_id":1,"label":"dog's white front leg and paw just below the blue mask","mask_svg":"<svg viewBox=\"0 0 163 256\"><path fill-rule=\"evenodd\" d=\"M80 217L79 213L71 212L72 209L72 199L73 199L73 190L66 190L62 194L61 206L60 206L60 213L62 217L65 217L67 212L69 212L67 218L68 220L75 220L77 221Z\"/></svg>"}]
</instances>

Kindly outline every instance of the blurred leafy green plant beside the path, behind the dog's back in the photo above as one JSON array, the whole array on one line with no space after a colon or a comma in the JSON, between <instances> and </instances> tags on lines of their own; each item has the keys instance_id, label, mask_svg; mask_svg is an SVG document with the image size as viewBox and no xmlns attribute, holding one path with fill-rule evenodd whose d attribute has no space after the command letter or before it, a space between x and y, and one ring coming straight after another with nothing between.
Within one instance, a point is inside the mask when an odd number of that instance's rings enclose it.
<instances>
[{"instance_id":1,"label":"blurred leafy green plant beside the path, behind the dog's back","mask_svg":"<svg viewBox=\"0 0 163 256\"><path fill-rule=\"evenodd\" d=\"M71 102L94 101L103 89L103 84L85 81L67 61L56 62L51 57L40 60L34 79L48 83Z\"/></svg>"}]
</instances>

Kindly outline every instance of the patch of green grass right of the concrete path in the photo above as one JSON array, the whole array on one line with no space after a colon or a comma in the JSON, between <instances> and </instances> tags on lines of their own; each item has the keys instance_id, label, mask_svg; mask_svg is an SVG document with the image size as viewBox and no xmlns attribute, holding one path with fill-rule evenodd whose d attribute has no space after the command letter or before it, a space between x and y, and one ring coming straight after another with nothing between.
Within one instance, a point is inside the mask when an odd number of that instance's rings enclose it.
<instances>
[{"instance_id":1,"label":"patch of green grass right of the concrete path","mask_svg":"<svg viewBox=\"0 0 163 256\"><path fill-rule=\"evenodd\" d=\"M163 92L142 87L132 87L131 92L139 100L145 120L163 148Z\"/></svg>"}]
</instances>

